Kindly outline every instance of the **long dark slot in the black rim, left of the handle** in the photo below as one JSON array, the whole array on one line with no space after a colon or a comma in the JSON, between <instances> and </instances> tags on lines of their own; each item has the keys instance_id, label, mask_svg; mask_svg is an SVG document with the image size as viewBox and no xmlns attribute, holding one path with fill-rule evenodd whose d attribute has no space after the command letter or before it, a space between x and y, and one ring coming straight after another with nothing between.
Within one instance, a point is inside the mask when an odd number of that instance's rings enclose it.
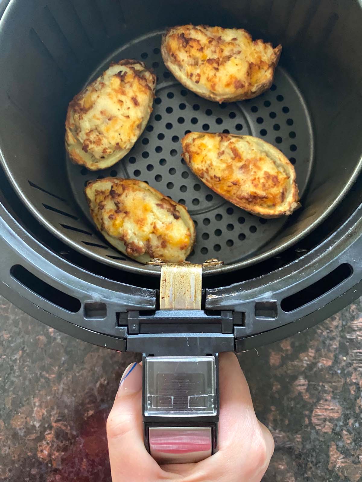
<instances>
[{"instance_id":1,"label":"long dark slot in the black rim, left of the handle","mask_svg":"<svg viewBox=\"0 0 362 482\"><path fill-rule=\"evenodd\" d=\"M71 313L77 313L77 311L81 309L79 299L50 286L50 284L42 281L21 265L14 265L10 269L10 274L16 281L28 288L28 290L60 308L66 309Z\"/></svg>"}]
</instances>

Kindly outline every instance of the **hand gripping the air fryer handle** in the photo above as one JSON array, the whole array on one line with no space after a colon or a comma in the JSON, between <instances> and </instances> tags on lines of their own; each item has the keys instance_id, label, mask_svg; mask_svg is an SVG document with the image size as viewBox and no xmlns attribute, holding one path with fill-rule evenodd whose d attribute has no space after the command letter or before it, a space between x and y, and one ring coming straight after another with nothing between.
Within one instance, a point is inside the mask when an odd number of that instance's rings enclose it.
<instances>
[{"instance_id":1,"label":"hand gripping the air fryer handle","mask_svg":"<svg viewBox=\"0 0 362 482\"><path fill-rule=\"evenodd\" d=\"M219 354L219 451L201 462L159 466L143 443L142 367L126 368L107 420L112 482L260 482L274 451L256 418L234 353Z\"/></svg>"}]
</instances>

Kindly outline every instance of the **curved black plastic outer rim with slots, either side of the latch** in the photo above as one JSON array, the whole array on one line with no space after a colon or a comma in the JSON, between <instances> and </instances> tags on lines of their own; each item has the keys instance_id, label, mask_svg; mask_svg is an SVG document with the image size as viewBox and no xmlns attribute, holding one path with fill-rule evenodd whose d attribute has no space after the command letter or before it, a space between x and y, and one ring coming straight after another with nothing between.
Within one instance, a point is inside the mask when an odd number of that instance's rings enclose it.
<instances>
[{"instance_id":1,"label":"curved black plastic outer rim with slots, either side of the latch","mask_svg":"<svg viewBox=\"0 0 362 482\"><path fill-rule=\"evenodd\" d=\"M127 349L127 334L122 326L114 326L117 312L154 309L156 291L109 281L77 268L32 238L0 204L0 246L5 255L0 266L0 292L19 308L54 328L106 348ZM206 308L244 310L248 335L236 338L236 350L243 351L277 341L312 326L332 315L362 295L362 204L327 240L308 254L275 272L254 280L225 288L206 290ZM313 302L291 313L280 309L280 300L301 288L328 276L341 264L351 266L351 275L343 284L324 293ZM37 295L14 278L11 269L23 266L40 280L62 292L76 296L81 302L77 312L59 308ZM343 293L341 295L341 292ZM253 314L256 299L274 299L278 304L276 320L257 320ZM84 318L86 303L102 300L107 305L107 319ZM268 326L265 329L265 326Z\"/></svg>"}]
</instances>

